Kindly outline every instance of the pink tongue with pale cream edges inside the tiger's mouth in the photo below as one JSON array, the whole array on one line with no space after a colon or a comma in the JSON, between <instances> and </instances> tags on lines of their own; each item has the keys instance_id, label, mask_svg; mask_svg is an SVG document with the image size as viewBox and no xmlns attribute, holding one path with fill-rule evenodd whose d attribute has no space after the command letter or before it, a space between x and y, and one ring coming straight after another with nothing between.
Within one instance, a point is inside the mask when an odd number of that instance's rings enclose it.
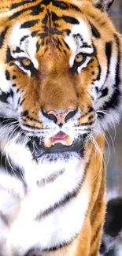
<instances>
[{"instance_id":1,"label":"pink tongue with pale cream edges inside the tiger's mouth","mask_svg":"<svg viewBox=\"0 0 122 256\"><path fill-rule=\"evenodd\" d=\"M54 146L56 143L61 143L65 146L72 145L73 139L69 137L65 132L58 132L56 135L50 137L50 139L44 139L44 147Z\"/></svg>"}]
</instances>

